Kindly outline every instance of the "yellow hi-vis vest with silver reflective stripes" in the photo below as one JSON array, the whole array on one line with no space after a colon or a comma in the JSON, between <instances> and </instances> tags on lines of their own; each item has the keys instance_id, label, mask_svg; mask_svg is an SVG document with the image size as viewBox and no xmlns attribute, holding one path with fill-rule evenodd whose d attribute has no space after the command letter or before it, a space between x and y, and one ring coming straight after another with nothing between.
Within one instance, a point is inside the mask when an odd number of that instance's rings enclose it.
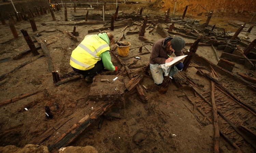
<instances>
[{"instance_id":1,"label":"yellow hi-vis vest with silver reflective stripes","mask_svg":"<svg viewBox=\"0 0 256 153\"><path fill-rule=\"evenodd\" d=\"M109 45L97 34L85 36L73 50L70 65L79 70L89 70L101 60L100 54L108 50L110 50Z\"/></svg>"}]
</instances>

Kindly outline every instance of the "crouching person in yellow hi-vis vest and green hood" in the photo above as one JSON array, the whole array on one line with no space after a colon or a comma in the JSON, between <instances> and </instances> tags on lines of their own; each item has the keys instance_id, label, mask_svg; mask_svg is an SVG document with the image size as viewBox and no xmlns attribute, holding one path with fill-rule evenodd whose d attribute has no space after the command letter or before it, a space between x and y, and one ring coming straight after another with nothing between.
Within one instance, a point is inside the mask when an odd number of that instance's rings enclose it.
<instances>
[{"instance_id":1,"label":"crouching person in yellow hi-vis vest and green hood","mask_svg":"<svg viewBox=\"0 0 256 153\"><path fill-rule=\"evenodd\" d=\"M98 35L87 35L72 51L70 65L73 70L85 76L86 82L93 82L95 75L104 68L117 71L117 66L111 62L110 46L115 44L114 36L103 31Z\"/></svg>"}]
</instances>

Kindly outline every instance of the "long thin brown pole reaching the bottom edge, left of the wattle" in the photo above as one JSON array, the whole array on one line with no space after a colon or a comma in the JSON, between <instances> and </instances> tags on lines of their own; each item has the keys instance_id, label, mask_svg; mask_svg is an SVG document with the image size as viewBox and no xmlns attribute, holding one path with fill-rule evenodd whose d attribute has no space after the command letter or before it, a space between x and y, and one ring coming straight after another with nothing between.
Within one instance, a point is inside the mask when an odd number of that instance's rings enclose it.
<instances>
[{"instance_id":1,"label":"long thin brown pole reaching the bottom edge, left of the wattle","mask_svg":"<svg viewBox=\"0 0 256 153\"><path fill-rule=\"evenodd\" d=\"M214 97L214 82L212 82L212 93L211 93L211 100L212 100L212 114L213 114L213 126L214 126L214 153L219 153L219 125L218 125L218 114L217 108L215 104L215 97Z\"/></svg>"}]
</instances>

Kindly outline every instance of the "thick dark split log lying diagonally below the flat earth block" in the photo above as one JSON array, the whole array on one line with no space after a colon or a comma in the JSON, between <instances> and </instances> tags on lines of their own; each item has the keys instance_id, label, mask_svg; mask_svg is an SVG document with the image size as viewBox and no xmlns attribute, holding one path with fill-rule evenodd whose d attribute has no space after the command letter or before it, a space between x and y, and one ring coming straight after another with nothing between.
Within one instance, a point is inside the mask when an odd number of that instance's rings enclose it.
<instances>
[{"instance_id":1,"label":"thick dark split log lying diagonally below the flat earth block","mask_svg":"<svg viewBox=\"0 0 256 153\"><path fill-rule=\"evenodd\" d=\"M49 150L53 151L53 149L59 149L61 147L68 146L92 122L94 122L104 112L108 111L112 105L113 105L112 102L105 102L101 104L99 107L94 108L93 112L91 112L90 114L87 114L84 118L82 118L80 121L75 123L66 133L62 134L62 136L55 141L54 145L49 146L48 147Z\"/></svg>"}]
</instances>

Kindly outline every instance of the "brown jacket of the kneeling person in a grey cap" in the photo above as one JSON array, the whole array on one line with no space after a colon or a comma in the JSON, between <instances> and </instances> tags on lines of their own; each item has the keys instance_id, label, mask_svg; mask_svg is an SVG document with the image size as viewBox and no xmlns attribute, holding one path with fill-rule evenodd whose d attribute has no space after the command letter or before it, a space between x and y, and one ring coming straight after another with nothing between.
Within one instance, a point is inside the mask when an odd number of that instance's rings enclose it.
<instances>
[{"instance_id":1,"label":"brown jacket of the kneeling person in a grey cap","mask_svg":"<svg viewBox=\"0 0 256 153\"><path fill-rule=\"evenodd\" d=\"M164 41L165 41L165 38L159 39L153 44L152 53L150 56L150 64L156 64L156 63L157 64L165 64L165 60L167 58L169 58L168 55L171 56L171 54L173 53L172 51L166 50L166 47L163 46ZM184 55L182 51L174 52L174 54L176 56Z\"/></svg>"}]
</instances>

